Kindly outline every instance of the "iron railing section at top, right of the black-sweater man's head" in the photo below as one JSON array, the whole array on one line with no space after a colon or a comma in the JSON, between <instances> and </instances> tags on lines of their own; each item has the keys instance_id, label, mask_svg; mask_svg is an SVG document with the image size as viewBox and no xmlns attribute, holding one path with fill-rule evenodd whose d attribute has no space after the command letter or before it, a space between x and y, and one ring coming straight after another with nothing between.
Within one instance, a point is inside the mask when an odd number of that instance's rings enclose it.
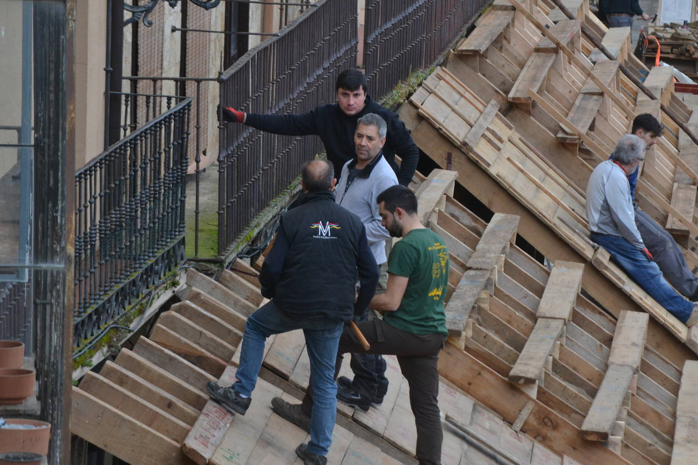
<instances>
[{"instance_id":1,"label":"iron railing section at top, right of the black-sweater man's head","mask_svg":"<svg viewBox=\"0 0 698 465\"><path fill-rule=\"evenodd\" d=\"M430 68L491 0L366 0L364 66L371 93L385 96Z\"/></svg>"}]
</instances>

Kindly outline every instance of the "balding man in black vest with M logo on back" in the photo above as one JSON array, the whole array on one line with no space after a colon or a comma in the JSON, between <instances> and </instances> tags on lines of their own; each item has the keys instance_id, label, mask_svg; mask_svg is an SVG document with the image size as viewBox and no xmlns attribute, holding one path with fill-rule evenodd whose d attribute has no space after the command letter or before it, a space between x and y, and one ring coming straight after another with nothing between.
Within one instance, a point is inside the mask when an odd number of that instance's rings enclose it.
<instances>
[{"instance_id":1,"label":"balding man in black vest with M logo on back","mask_svg":"<svg viewBox=\"0 0 698 465\"><path fill-rule=\"evenodd\" d=\"M309 443L296 448L305 465L324 465L336 414L334 366L344 323L364 313L378 283L378 266L366 228L334 202L334 167L313 160L302 171L304 195L281 216L279 230L259 276L262 296L271 298L245 324L236 381L209 381L211 399L244 415L262 366L267 337L302 329L311 365L315 404ZM357 280L361 284L355 296ZM355 300L356 299L356 300Z\"/></svg>"}]
</instances>

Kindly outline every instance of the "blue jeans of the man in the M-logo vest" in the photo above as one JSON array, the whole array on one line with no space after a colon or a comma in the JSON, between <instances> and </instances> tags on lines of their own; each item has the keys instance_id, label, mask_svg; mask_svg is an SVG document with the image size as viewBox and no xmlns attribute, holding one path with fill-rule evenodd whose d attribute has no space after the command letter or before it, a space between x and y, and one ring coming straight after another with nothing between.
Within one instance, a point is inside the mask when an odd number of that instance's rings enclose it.
<instances>
[{"instance_id":1,"label":"blue jeans of the man in the M-logo vest","mask_svg":"<svg viewBox=\"0 0 698 465\"><path fill-rule=\"evenodd\" d=\"M237 381L232 388L244 396L251 396L262 367L264 344L267 337L302 329L310 358L311 380L315 404L310 423L311 454L327 455L332 443L332 429L337 404L337 385L334 382L339 337L344 323L327 319L289 319L283 316L271 300L251 314L245 323L240 365L235 372Z\"/></svg>"}]
</instances>

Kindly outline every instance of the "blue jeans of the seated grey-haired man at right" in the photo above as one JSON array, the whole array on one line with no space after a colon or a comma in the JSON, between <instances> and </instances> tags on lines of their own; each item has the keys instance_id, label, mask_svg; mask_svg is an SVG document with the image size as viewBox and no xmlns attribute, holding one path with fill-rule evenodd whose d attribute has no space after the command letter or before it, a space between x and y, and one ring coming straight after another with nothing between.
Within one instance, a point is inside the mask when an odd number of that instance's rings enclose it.
<instances>
[{"instance_id":1,"label":"blue jeans of the seated grey-haired man at right","mask_svg":"<svg viewBox=\"0 0 698 465\"><path fill-rule=\"evenodd\" d=\"M676 294L669 286L654 261L649 261L645 255L621 236L591 233L592 241L608 250L611 257L628 273L634 282L652 296L674 317L683 321L688 320L693 310L693 304Z\"/></svg>"}]
</instances>

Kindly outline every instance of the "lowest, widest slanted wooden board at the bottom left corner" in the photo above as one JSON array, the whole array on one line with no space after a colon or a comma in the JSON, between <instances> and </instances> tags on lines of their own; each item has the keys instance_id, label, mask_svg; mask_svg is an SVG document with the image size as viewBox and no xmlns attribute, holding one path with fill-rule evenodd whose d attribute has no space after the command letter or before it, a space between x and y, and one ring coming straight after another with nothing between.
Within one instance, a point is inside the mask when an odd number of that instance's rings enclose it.
<instances>
[{"instance_id":1,"label":"lowest, widest slanted wooden board at the bottom left corner","mask_svg":"<svg viewBox=\"0 0 698 465\"><path fill-rule=\"evenodd\" d=\"M132 464L177 464L179 444L73 386L70 432Z\"/></svg>"}]
</instances>

